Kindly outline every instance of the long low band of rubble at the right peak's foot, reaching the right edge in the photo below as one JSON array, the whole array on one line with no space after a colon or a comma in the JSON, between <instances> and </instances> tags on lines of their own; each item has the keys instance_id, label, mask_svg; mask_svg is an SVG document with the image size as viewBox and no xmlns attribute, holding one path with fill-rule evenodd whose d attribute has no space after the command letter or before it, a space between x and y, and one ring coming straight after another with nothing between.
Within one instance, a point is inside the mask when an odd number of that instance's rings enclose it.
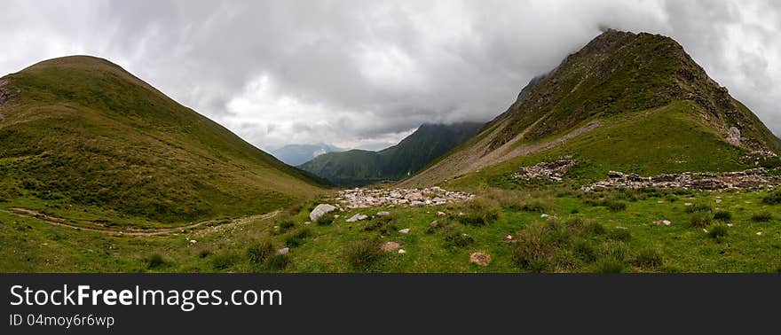
<instances>
[{"instance_id":1,"label":"long low band of rubble at the right peak's foot, reaching the right edge","mask_svg":"<svg viewBox=\"0 0 781 335\"><path fill-rule=\"evenodd\" d=\"M781 185L781 178L768 175L765 168L752 168L744 171L712 173L691 173L657 175L643 177L627 175L618 171L608 172L608 179L583 186L583 191L599 191L610 188L657 188L684 190L722 190L750 189Z\"/></svg>"}]
</instances>

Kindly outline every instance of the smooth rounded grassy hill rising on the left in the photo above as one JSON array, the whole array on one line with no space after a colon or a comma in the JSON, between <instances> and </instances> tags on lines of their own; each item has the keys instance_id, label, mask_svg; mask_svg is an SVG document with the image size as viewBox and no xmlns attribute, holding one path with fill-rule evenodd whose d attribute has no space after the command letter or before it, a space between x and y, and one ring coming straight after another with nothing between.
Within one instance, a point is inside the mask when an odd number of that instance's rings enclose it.
<instances>
[{"instance_id":1,"label":"smooth rounded grassy hill rising on the left","mask_svg":"<svg viewBox=\"0 0 781 335\"><path fill-rule=\"evenodd\" d=\"M51 59L2 82L0 187L12 204L189 222L268 212L319 191L105 59Z\"/></svg>"}]
</instances>

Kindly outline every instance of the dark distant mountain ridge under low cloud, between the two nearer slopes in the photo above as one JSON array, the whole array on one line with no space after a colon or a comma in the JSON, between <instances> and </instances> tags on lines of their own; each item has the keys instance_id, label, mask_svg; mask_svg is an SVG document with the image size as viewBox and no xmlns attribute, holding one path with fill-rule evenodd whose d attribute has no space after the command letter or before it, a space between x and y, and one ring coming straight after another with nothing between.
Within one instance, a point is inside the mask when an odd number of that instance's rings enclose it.
<instances>
[{"instance_id":1,"label":"dark distant mountain ridge under low cloud, between the two nearer slopes","mask_svg":"<svg viewBox=\"0 0 781 335\"><path fill-rule=\"evenodd\" d=\"M480 127L482 124L475 122L423 124L412 135L380 152L331 152L300 167L331 183L346 186L399 180L468 140Z\"/></svg>"}]
</instances>

